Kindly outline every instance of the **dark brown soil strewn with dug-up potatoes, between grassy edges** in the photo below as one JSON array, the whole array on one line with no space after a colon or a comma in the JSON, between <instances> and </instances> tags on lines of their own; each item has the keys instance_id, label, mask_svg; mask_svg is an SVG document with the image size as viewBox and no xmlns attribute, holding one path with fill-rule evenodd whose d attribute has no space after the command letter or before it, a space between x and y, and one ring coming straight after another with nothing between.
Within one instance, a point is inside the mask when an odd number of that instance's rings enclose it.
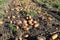
<instances>
[{"instance_id":1,"label":"dark brown soil strewn with dug-up potatoes, between grassy edges","mask_svg":"<svg viewBox=\"0 0 60 40\"><path fill-rule=\"evenodd\" d=\"M60 40L60 11L36 0L12 0L7 5L1 19L0 40ZM31 16L31 10L36 14ZM58 35L56 39L52 39L54 34Z\"/></svg>"}]
</instances>

